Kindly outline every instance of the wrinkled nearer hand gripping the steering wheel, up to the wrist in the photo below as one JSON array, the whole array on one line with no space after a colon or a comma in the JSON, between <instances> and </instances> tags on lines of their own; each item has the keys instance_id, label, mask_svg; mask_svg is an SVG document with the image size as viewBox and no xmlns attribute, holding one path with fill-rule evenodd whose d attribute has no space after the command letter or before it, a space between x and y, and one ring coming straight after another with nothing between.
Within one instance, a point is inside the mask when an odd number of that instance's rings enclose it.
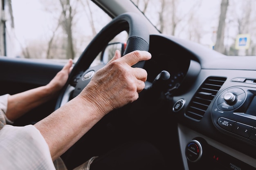
<instances>
[{"instance_id":1,"label":"wrinkled nearer hand gripping the steering wheel, up to the wrist","mask_svg":"<svg viewBox=\"0 0 256 170\"><path fill-rule=\"evenodd\" d=\"M147 72L132 65L149 60L147 51L133 51L121 57L120 51L99 71L79 94L85 102L96 104L99 113L107 114L111 110L134 102L145 87Z\"/></svg>"}]
</instances>

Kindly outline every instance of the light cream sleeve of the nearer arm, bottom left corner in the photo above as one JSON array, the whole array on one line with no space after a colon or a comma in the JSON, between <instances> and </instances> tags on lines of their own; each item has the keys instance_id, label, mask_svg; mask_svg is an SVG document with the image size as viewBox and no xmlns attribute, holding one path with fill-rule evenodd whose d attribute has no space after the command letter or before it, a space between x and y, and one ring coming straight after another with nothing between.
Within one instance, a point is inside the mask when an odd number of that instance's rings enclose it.
<instances>
[{"instance_id":1,"label":"light cream sleeve of the nearer arm, bottom left corner","mask_svg":"<svg viewBox=\"0 0 256 170\"><path fill-rule=\"evenodd\" d=\"M1 170L55 170L49 147L33 125L0 130Z\"/></svg>"}]
</instances>

